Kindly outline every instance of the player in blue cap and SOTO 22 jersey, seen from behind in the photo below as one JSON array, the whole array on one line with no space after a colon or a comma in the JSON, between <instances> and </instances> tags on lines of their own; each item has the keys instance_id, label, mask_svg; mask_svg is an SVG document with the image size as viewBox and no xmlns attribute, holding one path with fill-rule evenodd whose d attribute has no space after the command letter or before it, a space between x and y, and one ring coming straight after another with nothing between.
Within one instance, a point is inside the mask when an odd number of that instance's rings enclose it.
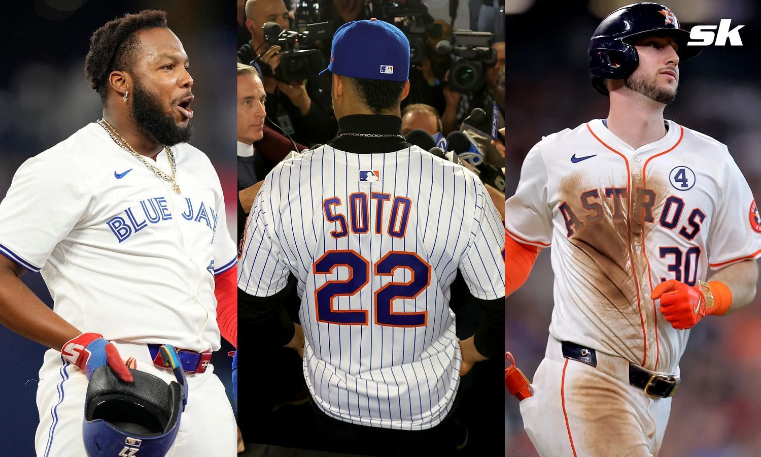
<instances>
[{"instance_id":1,"label":"player in blue cap and SOTO 22 jersey, seen from behind","mask_svg":"<svg viewBox=\"0 0 761 457\"><path fill-rule=\"evenodd\" d=\"M398 28L344 24L330 60L339 135L281 162L257 194L239 253L241 322L303 353L317 446L449 455L460 376L501 356L501 218L475 174L401 135L409 42ZM461 341L449 308L458 269L486 310ZM289 272L301 325L281 305Z\"/></svg>"}]
</instances>

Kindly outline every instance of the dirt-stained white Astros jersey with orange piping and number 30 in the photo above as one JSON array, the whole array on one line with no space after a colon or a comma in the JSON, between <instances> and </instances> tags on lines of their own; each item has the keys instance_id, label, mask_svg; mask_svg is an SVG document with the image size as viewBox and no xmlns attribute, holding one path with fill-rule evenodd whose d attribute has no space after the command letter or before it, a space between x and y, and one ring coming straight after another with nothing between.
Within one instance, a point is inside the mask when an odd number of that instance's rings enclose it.
<instances>
[{"instance_id":1,"label":"dirt-stained white Astros jersey with orange piping and number 30","mask_svg":"<svg viewBox=\"0 0 761 457\"><path fill-rule=\"evenodd\" d=\"M676 373L689 331L671 327L651 290L758 257L761 220L727 147L667 125L639 149L601 120L545 137L524 161L506 225L517 241L552 244L553 337Z\"/></svg>"}]
</instances>

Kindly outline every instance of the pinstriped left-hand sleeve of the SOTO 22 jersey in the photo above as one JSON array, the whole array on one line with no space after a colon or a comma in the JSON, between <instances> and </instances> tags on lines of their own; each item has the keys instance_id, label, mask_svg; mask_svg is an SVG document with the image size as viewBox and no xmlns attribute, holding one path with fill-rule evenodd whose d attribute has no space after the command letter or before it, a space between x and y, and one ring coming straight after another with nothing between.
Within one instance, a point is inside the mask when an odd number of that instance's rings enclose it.
<instances>
[{"instance_id":1,"label":"pinstriped left-hand sleeve of the SOTO 22 jersey","mask_svg":"<svg viewBox=\"0 0 761 457\"><path fill-rule=\"evenodd\" d=\"M272 174L256 194L238 253L238 288L252 296L272 296L288 284L288 264L273 232L271 188Z\"/></svg>"}]
</instances>

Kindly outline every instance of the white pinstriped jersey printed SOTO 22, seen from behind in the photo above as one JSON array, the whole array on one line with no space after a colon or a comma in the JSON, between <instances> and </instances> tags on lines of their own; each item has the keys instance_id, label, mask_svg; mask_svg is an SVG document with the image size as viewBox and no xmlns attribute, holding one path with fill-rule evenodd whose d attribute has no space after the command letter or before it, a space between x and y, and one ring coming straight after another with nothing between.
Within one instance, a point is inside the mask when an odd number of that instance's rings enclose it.
<instances>
[{"instance_id":1,"label":"white pinstriped jersey printed SOTO 22, seen from behind","mask_svg":"<svg viewBox=\"0 0 761 457\"><path fill-rule=\"evenodd\" d=\"M412 146L323 146L270 172L240 252L238 286L272 296L298 278L304 376L330 417L422 430L460 382L449 308L457 269L479 299L505 295L501 218L475 174Z\"/></svg>"}]
</instances>

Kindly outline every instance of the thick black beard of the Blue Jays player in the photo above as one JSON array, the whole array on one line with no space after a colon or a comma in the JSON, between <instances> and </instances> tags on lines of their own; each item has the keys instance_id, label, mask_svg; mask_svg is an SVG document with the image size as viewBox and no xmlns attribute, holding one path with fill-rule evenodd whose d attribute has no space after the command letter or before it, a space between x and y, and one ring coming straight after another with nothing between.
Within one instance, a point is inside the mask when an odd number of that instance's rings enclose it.
<instances>
[{"instance_id":1,"label":"thick black beard of the Blue Jays player","mask_svg":"<svg viewBox=\"0 0 761 457\"><path fill-rule=\"evenodd\" d=\"M132 118L140 132L161 145L173 146L189 142L193 136L190 123L178 126L171 113L164 112L157 97L151 94L138 79L132 85Z\"/></svg>"}]
</instances>

